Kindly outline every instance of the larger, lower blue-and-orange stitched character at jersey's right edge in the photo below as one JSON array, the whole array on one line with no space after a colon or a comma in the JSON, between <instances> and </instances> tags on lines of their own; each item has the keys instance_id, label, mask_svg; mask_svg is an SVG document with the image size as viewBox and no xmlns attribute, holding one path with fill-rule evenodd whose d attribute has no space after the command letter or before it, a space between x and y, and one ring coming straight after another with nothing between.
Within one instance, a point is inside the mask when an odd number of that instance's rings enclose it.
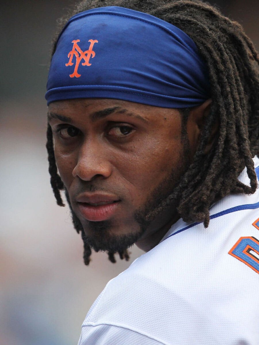
<instances>
[{"instance_id":1,"label":"larger, lower blue-and-orange stitched character at jersey's right edge","mask_svg":"<svg viewBox=\"0 0 259 345\"><path fill-rule=\"evenodd\" d=\"M257 238L240 237L228 254L259 273L259 240Z\"/></svg>"}]
</instances>

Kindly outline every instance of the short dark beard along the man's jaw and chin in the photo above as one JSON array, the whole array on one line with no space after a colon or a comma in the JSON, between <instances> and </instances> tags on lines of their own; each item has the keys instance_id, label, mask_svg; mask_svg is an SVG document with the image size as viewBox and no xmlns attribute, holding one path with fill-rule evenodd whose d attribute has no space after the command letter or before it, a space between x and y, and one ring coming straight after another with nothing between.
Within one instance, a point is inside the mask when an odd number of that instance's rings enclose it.
<instances>
[{"instance_id":1,"label":"short dark beard along the man's jaw and chin","mask_svg":"<svg viewBox=\"0 0 259 345\"><path fill-rule=\"evenodd\" d=\"M135 210L134 219L139 226L139 230L133 233L114 235L110 231L114 226L111 220L86 220L87 228L92 230L94 236L86 235L81 221L72 209L69 194L65 188L65 195L70 207L74 227L78 233L81 231L84 244L87 244L96 252L122 253L145 234L148 226L162 211L171 209L172 219L177 213L176 207L179 200L178 187L191 162L189 141L183 140L182 154L180 157L182 157L182 160L179 162L177 168L173 168L170 174L168 174L168 177L163 179L162 182L153 189L145 205ZM95 189L94 186L89 186L89 188L90 190Z\"/></svg>"}]
</instances>

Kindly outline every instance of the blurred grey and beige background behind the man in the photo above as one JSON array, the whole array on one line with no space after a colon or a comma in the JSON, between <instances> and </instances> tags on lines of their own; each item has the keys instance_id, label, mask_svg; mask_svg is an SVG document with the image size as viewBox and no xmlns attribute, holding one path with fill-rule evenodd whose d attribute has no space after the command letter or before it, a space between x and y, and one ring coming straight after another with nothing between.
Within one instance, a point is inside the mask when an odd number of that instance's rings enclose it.
<instances>
[{"instance_id":1,"label":"blurred grey and beige background behind the man","mask_svg":"<svg viewBox=\"0 0 259 345\"><path fill-rule=\"evenodd\" d=\"M258 0L210 1L236 19L259 49ZM130 262L94 253L89 267L69 210L56 205L45 149L44 100L51 39L70 0L1 3L1 345L77 344L106 283Z\"/></svg>"}]
</instances>

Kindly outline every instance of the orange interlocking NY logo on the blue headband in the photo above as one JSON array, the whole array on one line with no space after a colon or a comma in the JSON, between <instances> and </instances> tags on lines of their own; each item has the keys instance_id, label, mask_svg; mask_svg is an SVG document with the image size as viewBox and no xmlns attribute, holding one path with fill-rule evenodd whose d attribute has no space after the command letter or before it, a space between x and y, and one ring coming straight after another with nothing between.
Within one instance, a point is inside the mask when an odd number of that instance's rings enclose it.
<instances>
[{"instance_id":1,"label":"orange interlocking NY logo on the blue headband","mask_svg":"<svg viewBox=\"0 0 259 345\"><path fill-rule=\"evenodd\" d=\"M78 46L78 42L80 42L80 40L73 40L73 48L72 50L68 53L68 58L69 61L68 63L66 63L66 66L73 66L73 57L76 57L76 65L74 66L74 71L72 74L69 75L70 78L79 78L81 77L81 74L79 74L77 72L79 64L82 60L84 60L84 62L82 62L82 66L91 66L92 64L89 63L90 58L94 58L95 57L95 52L93 51L93 45L94 43L98 43L97 40L89 40L88 42L90 42L90 46L88 48L88 50L86 51L82 51L80 49L80 47Z\"/></svg>"}]
</instances>

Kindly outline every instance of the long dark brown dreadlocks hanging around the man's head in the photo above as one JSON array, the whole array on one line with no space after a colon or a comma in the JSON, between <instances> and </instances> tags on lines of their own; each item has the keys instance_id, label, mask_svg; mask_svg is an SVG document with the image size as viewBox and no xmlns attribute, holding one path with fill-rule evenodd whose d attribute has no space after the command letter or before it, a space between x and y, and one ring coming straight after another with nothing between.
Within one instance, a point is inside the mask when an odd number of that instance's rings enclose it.
<instances>
[{"instance_id":1,"label":"long dark brown dreadlocks hanging around the man's head","mask_svg":"<svg viewBox=\"0 0 259 345\"><path fill-rule=\"evenodd\" d=\"M72 15L104 6L146 12L175 25L192 38L207 65L212 98L210 114L203 125L199 146L189 169L160 210L177 198L177 211L184 221L203 222L208 227L209 208L216 200L230 193L252 194L257 188L253 157L259 154L258 53L239 23L201 0L84 0L60 20L58 32ZM53 53L57 37L58 33L53 42ZM204 149L217 121L217 138L205 155ZM50 126L47 138L51 186L58 205L63 206L60 196L63 183L57 174ZM238 180L245 167L250 179L248 186ZM78 230L78 225L74 225ZM80 231L83 237L82 227ZM91 249L84 243L86 265L89 253ZM127 252L119 254L126 260L129 257ZM109 252L108 255L114 262L114 253Z\"/></svg>"}]
</instances>

